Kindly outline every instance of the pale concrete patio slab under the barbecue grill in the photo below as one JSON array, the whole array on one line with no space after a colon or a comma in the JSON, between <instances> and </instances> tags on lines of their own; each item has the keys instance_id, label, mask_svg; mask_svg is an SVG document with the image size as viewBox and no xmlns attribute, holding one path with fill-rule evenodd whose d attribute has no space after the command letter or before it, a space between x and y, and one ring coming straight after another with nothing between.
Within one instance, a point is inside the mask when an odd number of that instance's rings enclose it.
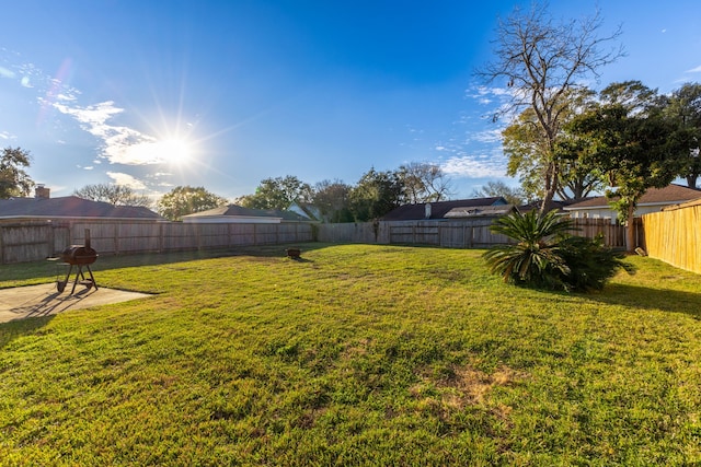
<instances>
[{"instance_id":1,"label":"pale concrete patio slab under the barbecue grill","mask_svg":"<svg viewBox=\"0 0 701 467\"><path fill-rule=\"evenodd\" d=\"M151 296L148 293L102 287L96 290L78 287L72 295L70 291L71 287L67 287L59 293L56 282L0 289L0 323Z\"/></svg>"}]
</instances>

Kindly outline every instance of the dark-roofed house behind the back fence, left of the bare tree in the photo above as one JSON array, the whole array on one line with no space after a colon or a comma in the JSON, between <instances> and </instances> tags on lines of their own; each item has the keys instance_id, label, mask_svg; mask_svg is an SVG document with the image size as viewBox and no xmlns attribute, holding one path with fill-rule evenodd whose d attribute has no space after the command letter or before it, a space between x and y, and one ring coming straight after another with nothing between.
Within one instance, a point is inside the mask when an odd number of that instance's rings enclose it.
<instances>
[{"instance_id":1,"label":"dark-roofed house behind the back fence, left of the bare tree","mask_svg":"<svg viewBox=\"0 0 701 467\"><path fill-rule=\"evenodd\" d=\"M382 221L421 221L464 219L479 215L501 215L514 209L498 196L492 198L460 199L455 201L417 202L390 211Z\"/></svg>"}]
</instances>

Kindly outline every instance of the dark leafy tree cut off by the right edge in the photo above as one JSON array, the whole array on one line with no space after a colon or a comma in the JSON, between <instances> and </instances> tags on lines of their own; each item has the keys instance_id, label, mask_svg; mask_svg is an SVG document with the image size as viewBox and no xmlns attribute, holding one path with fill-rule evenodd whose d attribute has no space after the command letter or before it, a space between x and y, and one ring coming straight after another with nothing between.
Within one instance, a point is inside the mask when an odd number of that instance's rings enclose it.
<instances>
[{"instance_id":1,"label":"dark leafy tree cut off by the right edge","mask_svg":"<svg viewBox=\"0 0 701 467\"><path fill-rule=\"evenodd\" d=\"M674 91L665 114L675 126L671 150L685 161L679 175L690 188L696 188L701 177L701 84L686 83Z\"/></svg>"}]
</instances>

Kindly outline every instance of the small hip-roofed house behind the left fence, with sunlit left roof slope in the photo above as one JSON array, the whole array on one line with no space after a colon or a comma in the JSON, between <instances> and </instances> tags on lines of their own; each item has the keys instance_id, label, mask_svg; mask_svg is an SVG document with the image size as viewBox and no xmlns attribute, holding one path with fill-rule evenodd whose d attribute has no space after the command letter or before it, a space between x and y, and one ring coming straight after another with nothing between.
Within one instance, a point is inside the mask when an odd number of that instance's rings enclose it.
<instances>
[{"instance_id":1,"label":"small hip-roofed house behind the left fence, with sunlit left roof slope","mask_svg":"<svg viewBox=\"0 0 701 467\"><path fill-rule=\"evenodd\" d=\"M197 224L279 224L281 222L309 222L309 218L296 212L276 209L250 209L237 205L222 206L207 211L183 215L183 222Z\"/></svg>"}]
</instances>

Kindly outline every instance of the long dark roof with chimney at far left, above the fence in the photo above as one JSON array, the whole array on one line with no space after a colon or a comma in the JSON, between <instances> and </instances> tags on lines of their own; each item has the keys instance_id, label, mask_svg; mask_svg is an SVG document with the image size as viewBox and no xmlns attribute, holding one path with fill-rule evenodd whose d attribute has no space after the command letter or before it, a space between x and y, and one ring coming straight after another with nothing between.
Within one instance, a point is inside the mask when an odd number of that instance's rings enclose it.
<instances>
[{"instance_id":1,"label":"long dark roof with chimney at far left, above the fence","mask_svg":"<svg viewBox=\"0 0 701 467\"><path fill-rule=\"evenodd\" d=\"M0 199L0 219L137 219L163 221L156 212L135 206L113 206L77 196Z\"/></svg>"}]
</instances>

